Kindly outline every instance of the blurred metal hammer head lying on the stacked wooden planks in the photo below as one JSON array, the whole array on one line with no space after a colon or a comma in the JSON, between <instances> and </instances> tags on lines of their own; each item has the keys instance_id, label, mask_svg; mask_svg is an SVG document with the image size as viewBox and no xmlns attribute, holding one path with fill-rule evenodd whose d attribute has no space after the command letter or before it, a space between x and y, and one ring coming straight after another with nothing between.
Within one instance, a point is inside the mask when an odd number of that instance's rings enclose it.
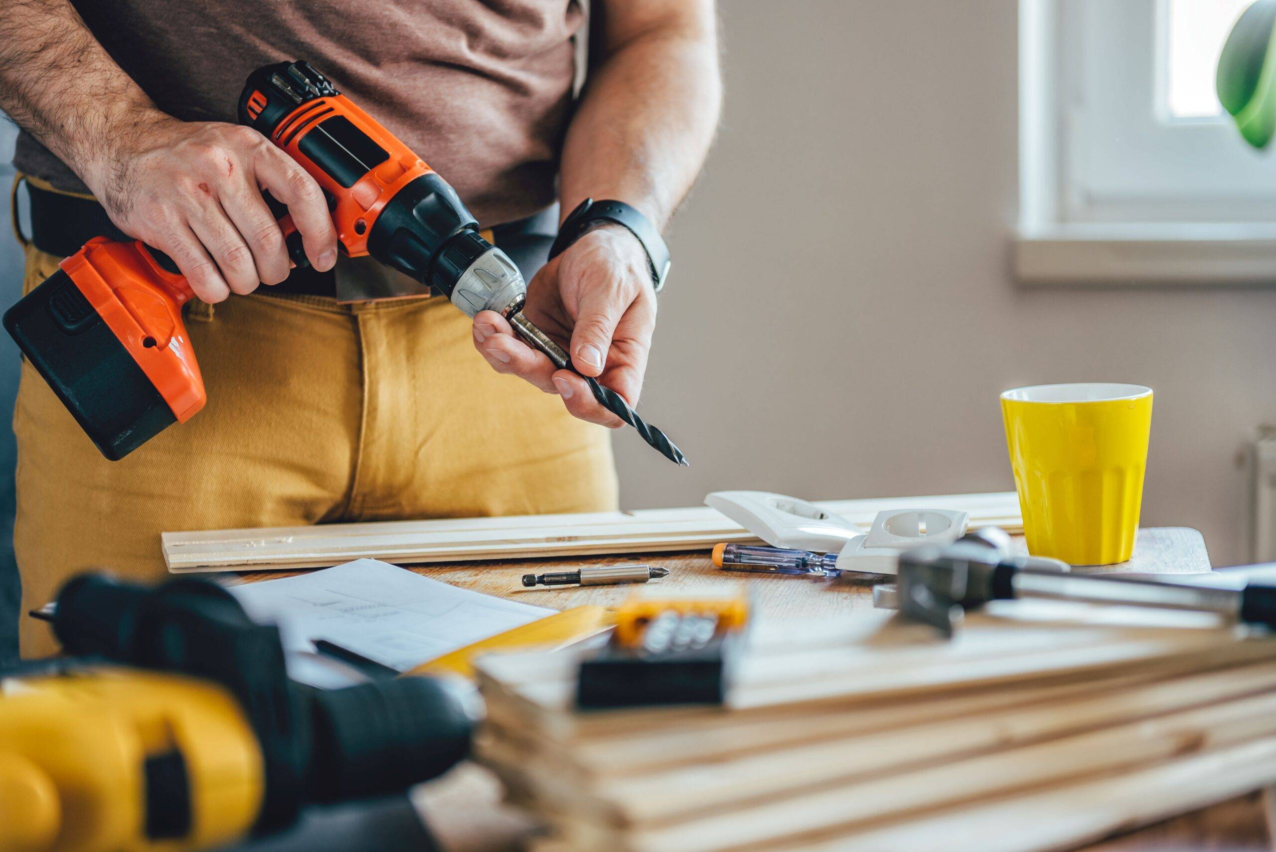
<instances>
[{"instance_id":1,"label":"blurred metal hammer head lying on the stacked wooden planks","mask_svg":"<svg viewBox=\"0 0 1276 852\"><path fill-rule=\"evenodd\" d=\"M1007 554L999 541L981 533L948 547L916 547L900 555L896 585L905 619L929 624L947 638L966 610L1007 597L994 582Z\"/></svg>"}]
</instances>

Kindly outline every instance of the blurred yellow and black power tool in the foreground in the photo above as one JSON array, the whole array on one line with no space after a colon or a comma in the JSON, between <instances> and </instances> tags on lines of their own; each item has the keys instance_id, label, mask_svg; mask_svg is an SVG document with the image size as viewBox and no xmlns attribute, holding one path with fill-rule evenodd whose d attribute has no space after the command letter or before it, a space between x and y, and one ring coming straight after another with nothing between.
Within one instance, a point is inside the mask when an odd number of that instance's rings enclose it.
<instances>
[{"instance_id":1,"label":"blurred yellow and black power tool in the foreground","mask_svg":"<svg viewBox=\"0 0 1276 852\"><path fill-rule=\"evenodd\" d=\"M429 677L314 690L225 589L98 575L59 596L78 659L0 681L0 851L185 852L382 796L470 750L471 696Z\"/></svg>"}]
</instances>

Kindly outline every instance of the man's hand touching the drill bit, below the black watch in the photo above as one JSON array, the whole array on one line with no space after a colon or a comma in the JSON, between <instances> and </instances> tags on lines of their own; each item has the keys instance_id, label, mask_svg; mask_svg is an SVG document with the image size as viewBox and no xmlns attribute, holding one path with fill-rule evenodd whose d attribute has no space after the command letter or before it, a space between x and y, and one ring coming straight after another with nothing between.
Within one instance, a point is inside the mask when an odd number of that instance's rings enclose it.
<instances>
[{"instance_id":1,"label":"man's hand touching the drill bit, below the black watch","mask_svg":"<svg viewBox=\"0 0 1276 852\"><path fill-rule=\"evenodd\" d=\"M523 314L555 338L583 375L596 376L630 406L638 404L656 328L656 293L642 244L609 224L584 233L549 261L527 288ZM575 417L611 429L624 421L604 408L570 370L555 370L494 311L475 316L475 347L496 372L521 376L563 397Z\"/></svg>"}]
</instances>

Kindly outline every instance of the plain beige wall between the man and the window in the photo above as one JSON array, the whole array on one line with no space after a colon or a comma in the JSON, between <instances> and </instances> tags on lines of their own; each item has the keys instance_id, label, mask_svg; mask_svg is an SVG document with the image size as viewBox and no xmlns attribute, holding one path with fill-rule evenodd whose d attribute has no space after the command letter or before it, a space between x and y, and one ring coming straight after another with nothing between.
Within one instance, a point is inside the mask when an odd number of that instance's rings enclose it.
<instances>
[{"instance_id":1,"label":"plain beige wall between the man and the window","mask_svg":"<svg viewBox=\"0 0 1276 852\"><path fill-rule=\"evenodd\" d=\"M619 434L624 505L1011 488L998 392L1133 381L1156 390L1143 523L1242 561L1276 290L1016 287L1016 3L721 6L725 119L642 406L692 467Z\"/></svg>"}]
</instances>

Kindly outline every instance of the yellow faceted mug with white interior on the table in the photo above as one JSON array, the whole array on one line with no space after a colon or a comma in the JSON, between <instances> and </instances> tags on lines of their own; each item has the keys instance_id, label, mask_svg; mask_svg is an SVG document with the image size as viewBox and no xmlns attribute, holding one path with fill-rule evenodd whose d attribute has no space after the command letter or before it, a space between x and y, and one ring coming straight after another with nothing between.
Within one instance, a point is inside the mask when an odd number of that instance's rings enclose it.
<instances>
[{"instance_id":1,"label":"yellow faceted mug with white interior on the table","mask_svg":"<svg viewBox=\"0 0 1276 852\"><path fill-rule=\"evenodd\" d=\"M1122 384L1002 394L1005 443L1034 556L1113 565L1134 552L1152 389Z\"/></svg>"}]
</instances>

